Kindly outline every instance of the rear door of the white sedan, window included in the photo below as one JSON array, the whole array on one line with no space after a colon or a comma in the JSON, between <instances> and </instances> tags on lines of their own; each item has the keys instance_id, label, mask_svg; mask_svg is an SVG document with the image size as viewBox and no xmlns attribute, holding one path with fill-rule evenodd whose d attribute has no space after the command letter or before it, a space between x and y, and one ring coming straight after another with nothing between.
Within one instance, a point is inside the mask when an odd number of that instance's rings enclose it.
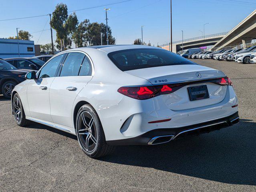
<instances>
[{"instance_id":1,"label":"rear door of the white sedan, window included","mask_svg":"<svg viewBox=\"0 0 256 192\"><path fill-rule=\"evenodd\" d=\"M50 86L50 114L56 124L73 128L72 108L77 94L92 78L92 64L83 52L69 52L59 76Z\"/></svg>"}]
</instances>

